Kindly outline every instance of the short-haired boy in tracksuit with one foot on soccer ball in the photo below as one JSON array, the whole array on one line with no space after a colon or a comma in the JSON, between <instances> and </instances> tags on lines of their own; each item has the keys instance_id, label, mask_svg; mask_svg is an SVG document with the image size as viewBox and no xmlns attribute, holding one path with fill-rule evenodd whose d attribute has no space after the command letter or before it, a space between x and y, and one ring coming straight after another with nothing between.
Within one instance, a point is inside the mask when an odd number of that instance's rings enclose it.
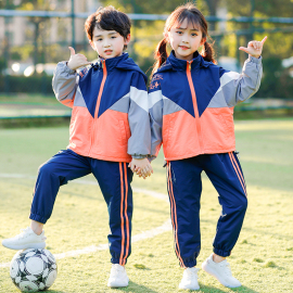
<instances>
[{"instance_id":1,"label":"short-haired boy in tracksuit with one foot on soccer ball","mask_svg":"<svg viewBox=\"0 0 293 293\"><path fill-rule=\"evenodd\" d=\"M58 64L54 93L73 109L69 144L39 168L30 227L2 241L12 250L43 249L42 227L59 188L92 173L109 206L112 269L107 285L112 288L127 286L129 280L124 266L131 253L132 171L143 178L152 173L146 158L151 146L146 76L123 52L130 41L130 26L125 13L100 8L85 23L99 62L77 74L77 68L90 63L69 47L69 61Z\"/></svg>"}]
</instances>

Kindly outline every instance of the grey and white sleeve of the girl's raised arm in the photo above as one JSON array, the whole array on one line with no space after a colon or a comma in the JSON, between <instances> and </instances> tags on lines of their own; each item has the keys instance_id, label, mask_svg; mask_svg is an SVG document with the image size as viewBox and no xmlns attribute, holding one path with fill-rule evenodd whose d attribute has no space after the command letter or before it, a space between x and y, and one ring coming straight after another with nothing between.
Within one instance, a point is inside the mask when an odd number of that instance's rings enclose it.
<instances>
[{"instance_id":1,"label":"grey and white sleeve of the girl's raised arm","mask_svg":"<svg viewBox=\"0 0 293 293\"><path fill-rule=\"evenodd\" d=\"M220 77L220 88L228 106L234 106L257 92L263 75L262 56L250 56L243 65L242 74L225 72ZM218 91L219 91L218 90Z\"/></svg>"}]
</instances>

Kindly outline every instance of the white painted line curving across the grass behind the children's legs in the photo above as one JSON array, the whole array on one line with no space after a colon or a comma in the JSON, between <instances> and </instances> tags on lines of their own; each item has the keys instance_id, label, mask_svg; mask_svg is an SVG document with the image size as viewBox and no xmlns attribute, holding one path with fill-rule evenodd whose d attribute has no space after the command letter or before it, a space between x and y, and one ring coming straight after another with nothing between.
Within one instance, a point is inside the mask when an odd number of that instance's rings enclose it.
<instances>
[{"instance_id":1,"label":"white painted line curving across the grass behind the children's legs","mask_svg":"<svg viewBox=\"0 0 293 293\"><path fill-rule=\"evenodd\" d=\"M22 174L0 174L1 178L27 178L27 179L36 179L36 177L34 176L26 176L26 175L22 175ZM79 183L79 184L98 184L94 181L87 181L87 180L75 180L75 183ZM133 188L135 192L141 192L143 194L156 198L156 199L161 199L163 201L168 201L168 196L164 193L160 193L160 192L155 192L155 191L151 191L151 190L145 190L145 189L140 189L140 188ZM138 241L144 240L144 239L150 239L150 238L154 238L155 235L158 235L161 233L167 232L171 230L171 224L170 224L170 219L166 220L162 226L156 227L154 229L151 230L146 230L140 234L136 234L132 235L131 238L131 243L136 243ZM109 244L100 244L100 245L91 245L91 246L87 246L85 249L81 250L76 250L76 251L69 251L69 252L65 252L65 253L60 253L60 254L54 254L56 259L62 259L65 257L74 257L74 256L79 256L81 254L89 254L89 253L94 253L98 251L105 251L109 249ZM0 264L0 268L8 268L10 267L10 263L2 263Z\"/></svg>"}]
</instances>

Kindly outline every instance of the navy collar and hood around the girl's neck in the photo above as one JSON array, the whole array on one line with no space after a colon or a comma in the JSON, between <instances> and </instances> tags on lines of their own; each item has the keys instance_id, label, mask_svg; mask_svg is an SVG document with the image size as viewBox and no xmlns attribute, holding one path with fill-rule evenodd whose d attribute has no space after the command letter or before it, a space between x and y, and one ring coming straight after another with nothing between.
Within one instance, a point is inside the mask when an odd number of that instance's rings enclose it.
<instances>
[{"instance_id":1,"label":"navy collar and hood around the girl's neck","mask_svg":"<svg viewBox=\"0 0 293 293\"><path fill-rule=\"evenodd\" d=\"M157 69L157 72L165 72L165 71L186 71L188 63L191 63L191 69L195 67L208 67L213 62L207 62L203 59L199 52L194 52L193 59L191 61L186 61L181 59L177 59L175 56L174 51L170 52L170 55L167 58L167 61L162 64L162 66Z\"/></svg>"}]
</instances>

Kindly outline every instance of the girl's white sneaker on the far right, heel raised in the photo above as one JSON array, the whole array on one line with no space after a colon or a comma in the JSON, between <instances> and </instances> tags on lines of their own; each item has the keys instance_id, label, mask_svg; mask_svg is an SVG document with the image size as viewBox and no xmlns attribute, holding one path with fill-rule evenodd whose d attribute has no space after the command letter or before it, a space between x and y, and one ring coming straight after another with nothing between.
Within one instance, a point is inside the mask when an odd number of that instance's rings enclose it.
<instances>
[{"instance_id":1,"label":"girl's white sneaker on the far right, heel raised","mask_svg":"<svg viewBox=\"0 0 293 293\"><path fill-rule=\"evenodd\" d=\"M203 270L214 276L222 285L228 288L241 286L241 282L232 276L231 268L227 259L215 263L213 254L202 264Z\"/></svg>"}]
</instances>

